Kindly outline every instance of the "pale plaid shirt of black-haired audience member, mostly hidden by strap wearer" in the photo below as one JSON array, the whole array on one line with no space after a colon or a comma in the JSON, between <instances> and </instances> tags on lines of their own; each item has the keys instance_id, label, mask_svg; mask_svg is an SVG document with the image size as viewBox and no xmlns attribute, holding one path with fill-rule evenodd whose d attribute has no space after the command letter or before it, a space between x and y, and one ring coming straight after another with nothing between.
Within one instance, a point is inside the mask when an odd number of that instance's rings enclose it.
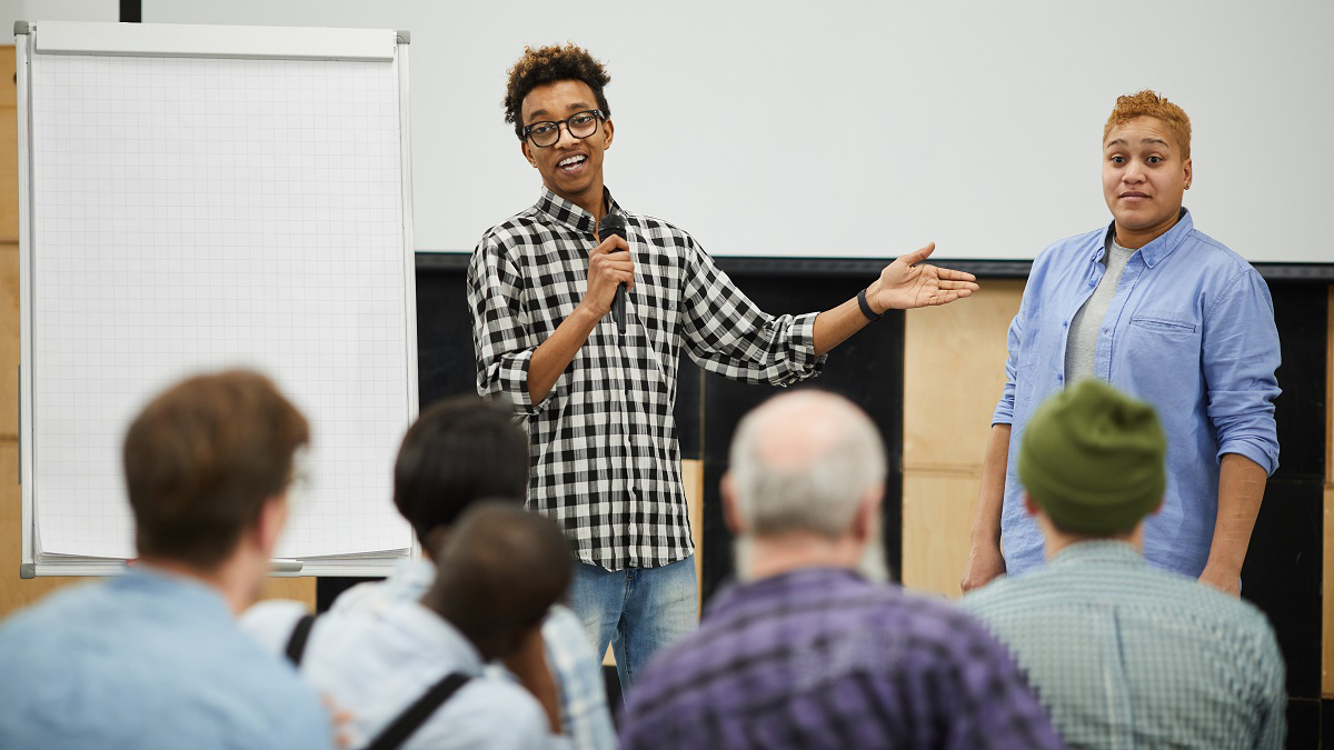
<instances>
[{"instance_id":1,"label":"pale plaid shirt of black-haired audience member, mostly hidden by strap wearer","mask_svg":"<svg viewBox=\"0 0 1334 750\"><path fill-rule=\"evenodd\" d=\"M387 579L348 589L329 611L382 613L399 602L420 599L432 582L431 560L399 560ZM554 605L542 622L542 641L560 691L560 723L571 743L580 750L614 750L616 734L607 709L602 659L594 654L579 618L570 607Z\"/></svg>"}]
</instances>

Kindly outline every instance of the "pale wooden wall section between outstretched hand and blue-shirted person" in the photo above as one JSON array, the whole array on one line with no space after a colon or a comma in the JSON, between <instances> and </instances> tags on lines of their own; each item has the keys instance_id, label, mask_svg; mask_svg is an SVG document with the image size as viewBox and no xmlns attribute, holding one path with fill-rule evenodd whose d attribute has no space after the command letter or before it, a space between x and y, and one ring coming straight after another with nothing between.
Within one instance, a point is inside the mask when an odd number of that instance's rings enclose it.
<instances>
[{"instance_id":1,"label":"pale wooden wall section between outstretched hand and blue-shirted person","mask_svg":"<svg viewBox=\"0 0 1334 750\"><path fill-rule=\"evenodd\" d=\"M987 279L960 303L910 311L903 351L903 585L959 595L1006 330L1023 282Z\"/></svg>"}]
</instances>

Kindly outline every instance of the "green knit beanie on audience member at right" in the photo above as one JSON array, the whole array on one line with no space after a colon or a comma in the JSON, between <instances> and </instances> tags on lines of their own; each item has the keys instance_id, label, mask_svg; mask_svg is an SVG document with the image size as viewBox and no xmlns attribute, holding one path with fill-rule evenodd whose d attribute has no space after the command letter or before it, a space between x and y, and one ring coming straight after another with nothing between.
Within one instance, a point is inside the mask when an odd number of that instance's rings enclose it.
<instances>
[{"instance_id":1,"label":"green knit beanie on audience member at right","mask_svg":"<svg viewBox=\"0 0 1334 750\"><path fill-rule=\"evenodd\" d=\"M1166 455L1154 407L1090 378L1034 412L1019 446L1019 480L1061 530L1119 534L1162 500Z\"/></svg>"}]
</instances>

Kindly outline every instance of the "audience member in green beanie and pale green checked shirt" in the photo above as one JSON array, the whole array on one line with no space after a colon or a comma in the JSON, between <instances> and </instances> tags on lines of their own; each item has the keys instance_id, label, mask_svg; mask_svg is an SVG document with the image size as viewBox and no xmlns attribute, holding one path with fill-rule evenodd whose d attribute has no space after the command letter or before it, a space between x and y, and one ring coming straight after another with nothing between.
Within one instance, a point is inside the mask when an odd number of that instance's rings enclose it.
<instances>
[{"instance_id":1,"label":"audience member in green beanie and pale green checked shirt","mask_svg":"<svg viewBox=\"0 0 1334 750\"><path fill-rule=\"evenodd\" d=\"M1154 408L1101 380L1047 399L1018 468L1049 562L963 606L1010 647L1070 747L1282 747L1283 658L1265 615L1143 558L1166 452Z\"/></svg>"}]
</instances>

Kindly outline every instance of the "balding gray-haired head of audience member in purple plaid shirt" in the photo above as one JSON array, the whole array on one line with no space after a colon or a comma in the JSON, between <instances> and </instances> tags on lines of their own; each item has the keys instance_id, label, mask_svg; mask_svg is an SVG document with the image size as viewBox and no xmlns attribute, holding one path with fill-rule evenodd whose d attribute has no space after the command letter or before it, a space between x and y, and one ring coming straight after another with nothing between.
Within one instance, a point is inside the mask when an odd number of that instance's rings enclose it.
<instances>
[{"instance_id":1,"label":"balding gray-haired head of audience member in purple plaid shirt","mask_svg":"<svg viewBox=\"0 0 1334 750\"><path fill-rule=\"evenodd\" d=\"M730 475L748 534L834 539L851 527L866 494L884 483L884 443L843 396L784 394L738 424Z\"/></svg>"}]
</instances>

